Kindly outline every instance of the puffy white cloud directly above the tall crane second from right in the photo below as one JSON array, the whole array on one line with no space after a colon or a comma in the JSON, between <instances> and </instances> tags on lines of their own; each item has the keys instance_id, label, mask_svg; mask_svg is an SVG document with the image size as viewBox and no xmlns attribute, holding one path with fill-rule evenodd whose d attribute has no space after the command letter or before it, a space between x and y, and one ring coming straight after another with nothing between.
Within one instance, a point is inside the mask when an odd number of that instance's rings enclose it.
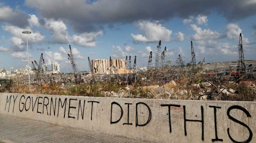
<instances>
[{"instance_id":1,"label":"puffy white cloud directly above the tall crane second from right","mask_svg":"<svg viewBox=\"0 0 256 143\"><path fill-rule=\"evenodd\" d=\"M194 40L207 40L207 39L218 39L219 33L217 31L211 31L211 29L204 29L197 27L195 24L190 25L193 31L195 31L195 35L192 35L192 39Z\"/></svg>"}]
</instances>

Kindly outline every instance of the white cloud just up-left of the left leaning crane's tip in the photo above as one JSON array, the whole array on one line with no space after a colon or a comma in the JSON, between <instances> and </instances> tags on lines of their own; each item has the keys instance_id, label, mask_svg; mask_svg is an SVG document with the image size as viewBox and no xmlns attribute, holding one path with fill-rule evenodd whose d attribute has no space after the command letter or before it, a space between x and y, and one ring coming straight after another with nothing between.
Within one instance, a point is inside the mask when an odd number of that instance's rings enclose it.
<instances>
[{"instance_id":1,"label":"white cloud just up-left of the left leaning crane's tip","mask_svg":"<svg viewBox=\"0 0 256 143\"><path fill-rule=\"evenodd\" d=\"M68 44L70 42L68 28L63 21L48 19L45 22L45 27L52 33L53 43Z\"/></svg>"}]
</instances>

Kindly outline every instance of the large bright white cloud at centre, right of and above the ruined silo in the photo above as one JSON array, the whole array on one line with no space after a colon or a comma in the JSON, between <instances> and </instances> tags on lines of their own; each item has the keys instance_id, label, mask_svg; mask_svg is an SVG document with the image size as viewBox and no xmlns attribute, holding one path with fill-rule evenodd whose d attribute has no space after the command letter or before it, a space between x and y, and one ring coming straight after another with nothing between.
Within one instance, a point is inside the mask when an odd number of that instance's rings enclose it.
<instances>
[{"instance_id":1,"label":"large bright white cloud at centre, right of and above the ruined silo","mask_svg":"<svg viewBox=\"0 0 256 143\"><path fill-rule=\"evenodd\" d=\"M139 42L158 42L162 40L164 42L169 42L171 40L170 35L172 30L162 27L158 22L150 21L138 21L135 23L135 27L139 28L139 33L133 35L131 33L132 39Z\"/></svg>"}]
</instances>

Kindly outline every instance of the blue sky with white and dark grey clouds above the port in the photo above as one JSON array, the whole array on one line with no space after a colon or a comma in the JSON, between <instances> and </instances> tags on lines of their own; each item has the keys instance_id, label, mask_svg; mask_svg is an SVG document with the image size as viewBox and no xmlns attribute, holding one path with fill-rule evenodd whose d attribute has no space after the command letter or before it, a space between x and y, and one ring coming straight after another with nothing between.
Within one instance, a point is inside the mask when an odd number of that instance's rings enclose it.
<instances>
[{"instance_id":1,"label":"blue sky with white and dark grey clouds above the port","mask_svg":"<svg viewBox=\"0 0 256 143\"><path fill-rule=\"evenodd\" d=\"M137 56L147 65L159 40L167 58L207 63L238 59L242 32L245 60L256 60L256 0L0 0L0 68L26 65L44 55L48 68L58 61L71 72L68 45L81 71L88 59ZM153 54L154 59L154 54Z\"/></svg>"}]
</instances>

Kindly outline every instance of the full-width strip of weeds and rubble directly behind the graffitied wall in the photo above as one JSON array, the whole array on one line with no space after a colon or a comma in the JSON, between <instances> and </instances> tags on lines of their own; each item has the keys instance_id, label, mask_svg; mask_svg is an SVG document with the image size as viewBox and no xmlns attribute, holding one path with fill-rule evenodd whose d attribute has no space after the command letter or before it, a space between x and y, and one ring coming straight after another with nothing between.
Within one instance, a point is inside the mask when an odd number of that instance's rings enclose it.
<instances>
[{"instance_id":1,"label":"full-width strip of weeds and rubble directly behind the graffitied wall","mask_svg":"<svg viewBox=\"0 0 256 143\"><path fill-rule=\"evenodd\" d=\"M138 77L137 82L129 86L123 85L124 82L120 84L120 81L94 81L77 85L52 83L48 87L34 84L31 90L13 79L0 80L0 92L180 100L256 100L255 78L237 80L228 75L209 75L192 66L151 69L138 73Z\"/></svg>"}]
</instances>

